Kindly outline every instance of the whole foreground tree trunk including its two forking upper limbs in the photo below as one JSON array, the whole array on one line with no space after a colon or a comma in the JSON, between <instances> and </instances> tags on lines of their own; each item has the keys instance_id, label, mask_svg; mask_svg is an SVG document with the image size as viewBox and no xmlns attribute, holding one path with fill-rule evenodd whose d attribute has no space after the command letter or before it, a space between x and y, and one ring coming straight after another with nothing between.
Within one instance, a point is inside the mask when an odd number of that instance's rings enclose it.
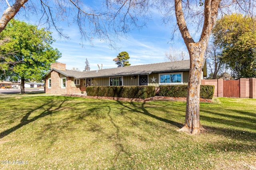
<instances>
[{"instance_id":1,"label":"whole foreground tree trunk including its two forking upper limbs","mask_svg":"<svg viewBox=\"0 0 256 170\"><path fill-rule=\"evenodd\" d=\"M186 25L184 13L182 11L182 0L174 0L177 24L190 56L186 119L184 127L178 131L198 134L204 129L200 124L199 119L202 63L210 33L218 15L220 1L221 0L204 1L204 25L200 40L196 43L191 37Z\"/></svg>"}]
</instances>

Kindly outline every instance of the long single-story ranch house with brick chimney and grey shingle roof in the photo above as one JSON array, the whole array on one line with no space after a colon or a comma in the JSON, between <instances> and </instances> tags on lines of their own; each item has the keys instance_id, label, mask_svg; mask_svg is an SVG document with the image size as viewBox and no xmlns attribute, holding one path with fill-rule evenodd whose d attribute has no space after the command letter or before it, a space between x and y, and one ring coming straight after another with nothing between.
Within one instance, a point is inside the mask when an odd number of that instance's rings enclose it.
<instances>
[{"instance_id":1,"label":"long single-story ranch house with brick chimney and grey shingle roof","mask_svg":"<svg viewBox=\"0 0 256 170\"><path fill-rule=\"evenodd\" d=\"M44 76L45 92L50 94L74 94L86 90L86 86L160 86L188 84L190 61L172 61L94 71L66 70L66 64L53 63ZM202 78L207 76L203 61Z\"/></svg>"}]
</instances>

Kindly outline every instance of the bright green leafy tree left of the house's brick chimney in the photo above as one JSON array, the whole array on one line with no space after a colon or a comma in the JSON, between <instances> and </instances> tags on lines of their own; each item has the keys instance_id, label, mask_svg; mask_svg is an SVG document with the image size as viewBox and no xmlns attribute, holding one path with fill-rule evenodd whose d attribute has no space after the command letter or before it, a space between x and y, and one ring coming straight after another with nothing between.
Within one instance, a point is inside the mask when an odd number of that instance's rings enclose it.
<instances>
[{"instance_id":1,"label":"bright green leafy tree left of the house's brick chimney","mask_svg":"<svg viewBox=\"0 0 256 170\"><path fill-rule=\"evenodd\" d=\"M5 54L16 51L12 55L7 55L7 58L18 63L8 66L5 77L10 80L21 80L20 93L24 94L25 80L41 80L50 69L50 64L61 57L61 53L50 46L54 41L50 31L44 28L37 29L35 25L22 21L11 20L0 34L0 39L6 37L9 37L10 41L1 45L0 51Z\"/></svg>"}]
</instances>

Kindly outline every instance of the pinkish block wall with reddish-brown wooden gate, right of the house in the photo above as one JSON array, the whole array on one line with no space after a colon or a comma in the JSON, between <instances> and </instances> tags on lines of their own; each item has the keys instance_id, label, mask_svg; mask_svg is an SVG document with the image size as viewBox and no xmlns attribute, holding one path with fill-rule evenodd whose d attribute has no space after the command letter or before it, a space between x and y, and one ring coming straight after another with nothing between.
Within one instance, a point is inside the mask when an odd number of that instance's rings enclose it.
<instances>
[{"instance_id":1,"label":"pinkish block wall with reddish-brown wooden gate, right of the house","mask_svg":"<svg viewBox=\"0 0 256 170\"><path fill-rule=\"evenodd\" d=\"M214 96L256 98L256 78L240 78L240 80L201 80L201 84L214 85Z\"/></svg>"}]
</instances>

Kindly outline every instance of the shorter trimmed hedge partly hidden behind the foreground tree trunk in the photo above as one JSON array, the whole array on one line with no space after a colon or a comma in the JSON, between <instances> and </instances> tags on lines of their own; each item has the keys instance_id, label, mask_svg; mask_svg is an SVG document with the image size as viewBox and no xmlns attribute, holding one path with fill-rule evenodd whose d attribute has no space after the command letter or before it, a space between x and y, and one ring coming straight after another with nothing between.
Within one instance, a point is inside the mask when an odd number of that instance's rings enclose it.
<instances>
[{"instance_id":1,"label":"shorter trimmed hedge partly hidden behind the foreground tree trunk","mask_svg":"<svg viewBox=\"0 0 256 170\"><path fill-rule=\"evenodd\" d=\"M187 85L167 85L159 86L159 96L186 98L187 97ZM200 86L200 98L212 99L214 94L213 85L201 85Z\"/></svg>"}]
</instances>

